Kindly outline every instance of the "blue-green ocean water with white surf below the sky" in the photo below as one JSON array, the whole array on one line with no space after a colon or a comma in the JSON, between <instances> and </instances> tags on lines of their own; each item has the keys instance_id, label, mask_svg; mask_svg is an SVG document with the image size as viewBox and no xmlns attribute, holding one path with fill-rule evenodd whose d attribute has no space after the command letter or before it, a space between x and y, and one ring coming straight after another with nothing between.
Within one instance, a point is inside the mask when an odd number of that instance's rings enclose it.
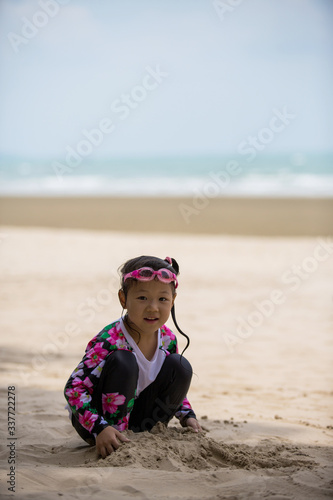
<instances>
[{"instance_id":1,"label":"blue-green ocean water with white surf below the sky","mask_svg":"<svg viewBox=\"0 0 333 500\"><path fill-rule=\"evenodd\" d=\"M1 157L2 196L333 197L333 154L60 160Z\"/></svg>"}]
</instances>

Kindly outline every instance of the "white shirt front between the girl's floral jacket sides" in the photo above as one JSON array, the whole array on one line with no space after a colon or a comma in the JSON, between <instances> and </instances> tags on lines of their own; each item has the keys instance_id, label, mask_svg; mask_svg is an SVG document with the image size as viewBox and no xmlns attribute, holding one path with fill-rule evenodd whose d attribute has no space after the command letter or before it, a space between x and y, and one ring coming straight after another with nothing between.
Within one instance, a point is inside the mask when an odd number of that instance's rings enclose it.
<instances>
[{"instance_id":1,"label":"white shirt front between the girl's floral jacket sides","mask_svg":"<svg viewBox=\"0 0 333 500\"><path fill-rule=\"evenodd\" d=\"M161 332L158 329L157 333L157 347L154 353L154 356L149 361L144 354L142 354L139 346L133 340L131 335L126 330L123 319L120 319L121 330L123 331L127 342L133 347L133 354L136 357L136 361L139 367L139 377L138 384L136 388L136 397L139 396L140 392L142 392L148 385L150 385L156 379L158 373L160 372L164 360L166 358L165 352L163 349L160 349L161 346Z\"/></svg>"}]
</instances>

